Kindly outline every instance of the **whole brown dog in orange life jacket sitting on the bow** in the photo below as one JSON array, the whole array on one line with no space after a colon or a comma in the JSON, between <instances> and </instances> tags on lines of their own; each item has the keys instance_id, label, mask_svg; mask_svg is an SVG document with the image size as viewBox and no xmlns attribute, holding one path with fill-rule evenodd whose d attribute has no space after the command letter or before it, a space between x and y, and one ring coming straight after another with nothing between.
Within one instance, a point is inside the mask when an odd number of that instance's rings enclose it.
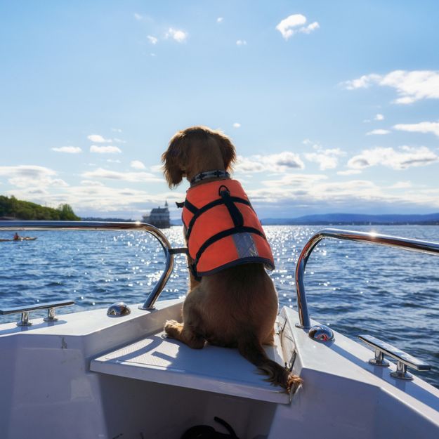
<instances>
[{"instance_id":1,"label":"whole brown dog in orange life jacket sitting on the bow","mask_svg":"<svg viewBox=\"0 0 439 439\"><path fill-rule=\"evenodd\" d=\"M164 330L194 349L206 342L237 348L267 375L266 381L296 391L301 378L270 360L263 349L264 344L274 344L278 299L266 273L266 267L274 268L273 256L247 195L239 182L230 179L235 160L230 139L206 126L178 131L162 155L169 188L183 178L191 182L182 215L190 289L183 303L183 322L168 320ZM200 236L195 237L195 229ZM214 236L209 237L209 232ZM232 250L225 245L227 240ZM230 261L234 252L242 258Z\"/></svg>"}]
</instances>

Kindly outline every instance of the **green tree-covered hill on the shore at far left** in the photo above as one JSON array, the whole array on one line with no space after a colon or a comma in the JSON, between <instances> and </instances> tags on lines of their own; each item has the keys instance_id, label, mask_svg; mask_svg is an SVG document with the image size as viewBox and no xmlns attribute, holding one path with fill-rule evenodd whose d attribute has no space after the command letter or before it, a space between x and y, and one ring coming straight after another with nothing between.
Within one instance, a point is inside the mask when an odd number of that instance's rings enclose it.
<instances>
[{"instance_id":1,"label":"green tree-covered hill on the shore at far left","mask_svg":"<svg viewBox=\"0 0 439 439\"><path fill-rule=\"evenodd\" d=\"M44 207L16 199L14 196L0 195L0 219L7 220L45 220L45 221L79 221L69 204L60 204L58 209Z\"/></svg>"}]
</instances>

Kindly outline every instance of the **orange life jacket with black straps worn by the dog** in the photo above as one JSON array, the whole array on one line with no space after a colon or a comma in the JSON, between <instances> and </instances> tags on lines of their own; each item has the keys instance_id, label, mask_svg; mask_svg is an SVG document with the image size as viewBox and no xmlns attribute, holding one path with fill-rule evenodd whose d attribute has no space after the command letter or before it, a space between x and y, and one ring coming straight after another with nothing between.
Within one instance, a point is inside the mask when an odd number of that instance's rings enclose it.
<instances>
[{"instance_id":1,"label":"orange life jacket with black straps worn by the dog","mask_svg":"<svg viewBox=\"0 0 439 439\"><path fill-rule=\"evenodd\" d=\"M242 263L275 263L239 181L212 181L189 188L181 215L195 277L212 275Z\"/></svg>"}]
</instances>

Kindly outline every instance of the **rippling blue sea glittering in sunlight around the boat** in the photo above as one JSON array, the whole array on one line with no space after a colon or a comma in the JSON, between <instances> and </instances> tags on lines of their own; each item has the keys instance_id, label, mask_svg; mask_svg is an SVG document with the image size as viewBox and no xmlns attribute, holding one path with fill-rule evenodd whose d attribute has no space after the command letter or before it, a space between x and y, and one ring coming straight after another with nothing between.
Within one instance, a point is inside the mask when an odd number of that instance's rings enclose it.
<instances>
[{"instance_id":1,"label":"rippling blue sea glittering in sunlight around the boat","mask_svg":"<svg viewBox=\"0 0 439 439\"><path fill-rule=\"evenodd\" d=\"M270 276L280 307L297 308L296 261L303 245L322 228L264 227L275 257ZM439 225L338 228L439 242ZM163 231L172 247L184 246L181 226ZM74 300L74 306L58 310L62 314L106 308L116 301L143 303L164 268L162 247L142 231L43 230L21 235L37 240L0 242L0 309ZM10 237L11 232L0 232L0 239ZM421 358L432 369L417 374L439 388L439 257L326 239L308 260L305 287L312 319L350 339L371 334ZM159 299L183 298L187 289L187 263L178 255ZM0 323L17 317L0 315Z\"/></svg>"}]
</instances>

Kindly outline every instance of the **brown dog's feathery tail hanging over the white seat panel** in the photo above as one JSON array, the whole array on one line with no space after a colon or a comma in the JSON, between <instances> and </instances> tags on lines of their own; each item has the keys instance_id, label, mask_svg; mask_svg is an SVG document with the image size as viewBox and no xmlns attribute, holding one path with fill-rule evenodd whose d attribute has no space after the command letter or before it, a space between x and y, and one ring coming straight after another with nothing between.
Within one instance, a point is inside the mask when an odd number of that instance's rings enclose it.
<instances>
[{"instance_id":1,"label":"brown dog's feathery tail hanging over the white seat panel","mask_svg":"<svg viewBox=\"0 0 439 439\"><path fill-rule=\"evenodd\" d=\"M267 357L266 351L263 350L254 334L244 333L238 341L238 350L246 360L258 367L263 374L268 375L266 381L271 384L282 386L287 392L292 390L293 393L302 384L302 379L299 376L292 374L285 367Z\"/></svg>"}]
</instances>

